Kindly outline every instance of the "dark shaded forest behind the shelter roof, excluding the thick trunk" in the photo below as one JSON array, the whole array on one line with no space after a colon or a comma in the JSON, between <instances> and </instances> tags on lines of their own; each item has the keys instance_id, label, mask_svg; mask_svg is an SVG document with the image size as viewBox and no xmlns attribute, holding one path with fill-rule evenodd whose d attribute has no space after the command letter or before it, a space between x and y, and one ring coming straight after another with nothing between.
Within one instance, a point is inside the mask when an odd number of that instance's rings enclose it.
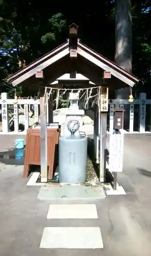
<instances>
[{"instance_id":1,"label":"dark shaded forest behind the shelter roof, excluding the thick trunk","mask_svg":"<svg viewBox=\"0 0 151 256\"><path fill-rule=\"evenodd\" d=\"M146 92L147 98L151 98L151 3L150 0L131 2L133 74L140 78L134 90ZM115 59L115 1L64 4L0 0L0 8L0 92L14 95L14 88L6 83L6 78L62 44L73 22L78 25L78 37L84 44ZM22 96L28 94L26 89L17 90Z\"/></svg>"}]
</instances>

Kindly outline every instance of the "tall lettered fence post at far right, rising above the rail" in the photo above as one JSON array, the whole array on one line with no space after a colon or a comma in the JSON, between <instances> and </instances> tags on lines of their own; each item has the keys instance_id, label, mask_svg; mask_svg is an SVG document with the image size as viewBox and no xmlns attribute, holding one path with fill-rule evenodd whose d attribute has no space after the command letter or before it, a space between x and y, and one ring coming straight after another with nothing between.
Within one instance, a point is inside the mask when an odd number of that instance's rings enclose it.
<instances>
[{"instance_id":1,"label":"tall lettered fence post at far right, rising above the rail","mask_svg":"<svg viewBox=\"0 0 151 256\"><path fill-rule=\"evenodd\" d=\"M139 103L139 132L145 132L145 117L146 117L146 94L140 93Z\"/></svg>"}]
</instances>

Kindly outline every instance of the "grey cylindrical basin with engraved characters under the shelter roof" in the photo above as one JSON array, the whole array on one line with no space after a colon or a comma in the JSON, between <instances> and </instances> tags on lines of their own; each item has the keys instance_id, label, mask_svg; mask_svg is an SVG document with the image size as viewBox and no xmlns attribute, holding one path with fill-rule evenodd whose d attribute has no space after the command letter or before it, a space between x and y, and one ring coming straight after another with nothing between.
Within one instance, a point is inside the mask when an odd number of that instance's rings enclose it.
<instances>
[{"instance_id":1,"label":"grey cylindrical basin with engraved characters under the shelter roof","mask_svg":"<svg viewBox=\"0 0 151 256\"><path fill-rule=\"evenodd\" d=\"M79 183L87 180L87 137L59 137L59 182Z\"/></svg>"}]
</instances>

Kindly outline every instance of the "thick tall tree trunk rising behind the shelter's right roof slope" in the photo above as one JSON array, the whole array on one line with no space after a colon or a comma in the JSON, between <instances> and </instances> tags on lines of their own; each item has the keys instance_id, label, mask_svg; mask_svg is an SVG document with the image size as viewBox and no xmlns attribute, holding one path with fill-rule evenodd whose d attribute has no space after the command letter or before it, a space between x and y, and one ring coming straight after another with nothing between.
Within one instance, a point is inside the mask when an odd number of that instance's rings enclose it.
<instances>
[{"instance_id":1,"label":"thick tall tree trunk rising behind the shelter's right roof slope","mask_svg":"<svg viewBox=\"0 0 151 256\"><path fill-rule=\"evenodd\" d=\"M131 0L115 0L115 62L124 70L132 73L132 15ZM128 99L130 88L116 91L117 99ZM128 105L127 105L128 106ZM125 108L126 106L124 106ZM124 126L127 129L129 111L124 113Z\"/></svg>"}]
</instances>

